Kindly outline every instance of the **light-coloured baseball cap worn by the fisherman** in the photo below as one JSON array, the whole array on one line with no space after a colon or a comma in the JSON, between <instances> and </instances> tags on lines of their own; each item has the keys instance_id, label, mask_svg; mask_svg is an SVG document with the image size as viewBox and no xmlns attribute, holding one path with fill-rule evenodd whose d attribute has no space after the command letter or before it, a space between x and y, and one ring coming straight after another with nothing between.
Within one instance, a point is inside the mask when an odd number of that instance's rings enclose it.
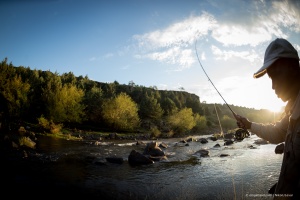
<instances>
[{"instance_id":1,"label":"light-coloured baseball cap worn by the fisherman","mask_svg":"<svg viewBox=\"0 0 300 200\"><path fill-rule=\"evenodd\" d=\"M279 58L295 58L299 60L297 50L283 38L277 38L269 44L265 52L264 65L254 73L253 77L262 77L267 72L268 67Z\"/></svg>"}]
</instances>

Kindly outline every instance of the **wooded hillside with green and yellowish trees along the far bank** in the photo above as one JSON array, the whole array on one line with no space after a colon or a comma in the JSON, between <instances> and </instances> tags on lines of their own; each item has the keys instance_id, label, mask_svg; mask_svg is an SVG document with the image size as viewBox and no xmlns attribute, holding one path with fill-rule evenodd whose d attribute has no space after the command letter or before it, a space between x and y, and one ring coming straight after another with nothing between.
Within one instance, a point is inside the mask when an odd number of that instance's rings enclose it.
<instances>
[{"instance_id":1,"label":"wooded hillside with green and yellowish trees along the far bank","mask_svg":"<svg viewBox=\"0 0 300 200\"><path fill-rule=\"evenodd\" d=\"M72 72L16 67L5 58L0 64L0 129L31 123L53 132L69 127L173 136L201 133L219 123L224 130L236 128L226 105L206 104L183 90L158 90L133 81L102 83ZM267 110L231 107L257 122L274 120Z\"/></svg>"}]
</instances>

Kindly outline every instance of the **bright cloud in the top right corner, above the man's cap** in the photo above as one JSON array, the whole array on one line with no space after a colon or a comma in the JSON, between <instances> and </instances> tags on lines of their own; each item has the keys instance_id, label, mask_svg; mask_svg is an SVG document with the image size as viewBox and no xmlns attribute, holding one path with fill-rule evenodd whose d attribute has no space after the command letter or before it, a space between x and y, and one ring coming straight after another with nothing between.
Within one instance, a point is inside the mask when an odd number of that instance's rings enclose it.
<instances>
[{"instance_id":1,"label":"bright cloud in the top right corner, above the man's cap","mask_svg":"<svg viewBox=\"0 0 300 200\"><path fill-rule=\"evenodd\" d=\"M252 1L249 12L242 15L231 13L230 18L236 18L234 22L218 20L218 28L214 29L212 36L224 46L257 46L270 41L272 36L288 38L287 29L300 31L299 6L292 1L273 1L269 5L264 1ZM243 19L244 22L238 21Z\"/></svg>"}]
</instances>

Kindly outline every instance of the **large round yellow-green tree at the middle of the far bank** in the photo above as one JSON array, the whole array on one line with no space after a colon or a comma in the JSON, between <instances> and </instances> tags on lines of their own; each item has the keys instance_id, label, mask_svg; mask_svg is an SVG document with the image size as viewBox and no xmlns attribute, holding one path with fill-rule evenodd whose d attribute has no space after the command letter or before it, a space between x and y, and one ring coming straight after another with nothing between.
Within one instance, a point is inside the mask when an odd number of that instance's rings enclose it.
<instances>
[{"instance_id":1,"label":"large round yellow-green tree at the middle of the far bank","mask_svg":"<svg viewBox=\"0 0 300 200\"><path fill-rule=\"evenodd\" d=\"M139 126L137 104L125 93L106 100L102 106L105 122L114 130L133 131Z\"/></svg>"}]
</instances>

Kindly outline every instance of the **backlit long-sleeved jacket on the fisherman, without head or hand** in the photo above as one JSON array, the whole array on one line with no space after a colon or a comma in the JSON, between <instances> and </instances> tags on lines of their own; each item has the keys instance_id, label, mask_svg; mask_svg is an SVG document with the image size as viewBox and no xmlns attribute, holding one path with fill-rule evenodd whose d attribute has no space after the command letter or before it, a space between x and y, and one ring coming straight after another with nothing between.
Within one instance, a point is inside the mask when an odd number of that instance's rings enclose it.
<instances>
[{"instance_id":1,"label":"backlit long-sleeved jacket on the fisherman, without head or hand","mask_svg":"<svg viewBox=\"0 0 300 200\"><path fill-rule=\"evenodd\" d=\"M252 123L251 132L271 143L285 143L274 199L300 199L300 92L281 121Z\"/></svg>"}]
</instances>

